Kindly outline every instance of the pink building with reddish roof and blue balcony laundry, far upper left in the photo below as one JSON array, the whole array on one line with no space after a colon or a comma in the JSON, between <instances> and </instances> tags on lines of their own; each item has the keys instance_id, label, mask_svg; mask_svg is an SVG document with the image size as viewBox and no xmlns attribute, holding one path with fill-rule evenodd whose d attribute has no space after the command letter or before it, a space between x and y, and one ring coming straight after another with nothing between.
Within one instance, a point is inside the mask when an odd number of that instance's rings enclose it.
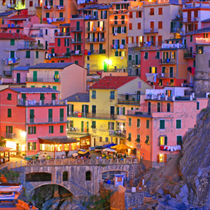
<instances>
[{"instance_id":1,"label":"pink building with reddish roof and blue balcony laundry, far upper left","mask_svg":"<svg viewBox=\"0 0 210 210\"><path fill-rule=\"evenodd\" d=\"M2 24L3 33L22 33L28 34L33 24L40 23L36 15L14 15L4 19Z\"/></svg>"}]
</instances>

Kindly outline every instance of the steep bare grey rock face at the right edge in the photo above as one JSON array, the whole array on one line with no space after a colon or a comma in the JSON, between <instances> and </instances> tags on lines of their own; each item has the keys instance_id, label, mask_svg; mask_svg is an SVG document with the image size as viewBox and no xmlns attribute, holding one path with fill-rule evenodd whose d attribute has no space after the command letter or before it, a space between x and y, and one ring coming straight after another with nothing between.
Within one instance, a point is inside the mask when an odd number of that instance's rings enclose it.
<instances>
[{"instance_id":1,"label":"steep bare grey rock face at the right edge","mask_svg":"<svg viewBox=\"0 0 210 210\"><path fill-rule=\"evenodd\" d=\"M189 203L210 209L209 106L199 114L196 128L184 137L179 170L189 190Z\"/></svg>"}]
</instances>

